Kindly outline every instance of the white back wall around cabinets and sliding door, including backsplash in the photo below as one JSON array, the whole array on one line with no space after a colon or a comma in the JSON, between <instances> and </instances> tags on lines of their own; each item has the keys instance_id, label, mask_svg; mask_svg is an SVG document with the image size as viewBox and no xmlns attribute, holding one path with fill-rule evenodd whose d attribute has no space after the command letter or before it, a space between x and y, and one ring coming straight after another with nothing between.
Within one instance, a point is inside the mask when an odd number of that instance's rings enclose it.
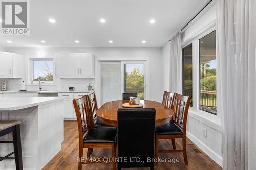
<instances>
[{"instance_id":1,"label":"white back wall around cabinets and sliding door, including backsplash","mask_svg":"<svg viewBox=\"0 0 256 170\"><path fill-rule=\"evenodd\" d=\"M98 58L148 58L150 64L150 99L162 100L162 52L161 48L6 48L5 51L26 56L26 58L52 58L54 53L93 53ZM28 71L27 71L28 72ZM73 85L76 90L84 90L93 79L57 79L55 86L43 86L45 90L67 90ZM36 89L37 86L29 86Z\"/></svg>"}]
</instances>

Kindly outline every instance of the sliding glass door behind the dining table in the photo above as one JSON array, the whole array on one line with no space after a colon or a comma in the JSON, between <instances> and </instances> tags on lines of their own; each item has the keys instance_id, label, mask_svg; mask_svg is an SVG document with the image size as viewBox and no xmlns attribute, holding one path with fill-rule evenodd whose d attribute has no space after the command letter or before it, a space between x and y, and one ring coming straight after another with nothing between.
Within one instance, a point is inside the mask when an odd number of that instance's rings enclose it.
<instances>
[{"instance_id":1,"label":"sliding glass door behind the dining table","mask_svg":"<svg viewBox=\"0 0 256 170\"><path fill-rule=\"evenodd\" d=\"M123 92L135 92L140 99L145 99L145 79L144 61L100 62L100 104L121 100Z\"/></svg>"}]
</instances>

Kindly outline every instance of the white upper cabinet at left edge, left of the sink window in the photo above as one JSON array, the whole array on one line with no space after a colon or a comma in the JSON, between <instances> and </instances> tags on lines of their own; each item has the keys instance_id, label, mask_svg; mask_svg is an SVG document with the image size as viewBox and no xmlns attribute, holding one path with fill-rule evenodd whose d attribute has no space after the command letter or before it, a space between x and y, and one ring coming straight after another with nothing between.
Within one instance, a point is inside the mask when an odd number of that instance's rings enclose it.
<instances>
[{"instance_id":1,"label":"white upper cabinet at left edge, left of the sink window","mask_svg":"<svg viewBox=\"0 0 256 170\"><path fill-rule=\"evenodd\" d=\"M15 53L0 52L0 77L24 78L25 58Z\"/></svg>"}]
</instances>

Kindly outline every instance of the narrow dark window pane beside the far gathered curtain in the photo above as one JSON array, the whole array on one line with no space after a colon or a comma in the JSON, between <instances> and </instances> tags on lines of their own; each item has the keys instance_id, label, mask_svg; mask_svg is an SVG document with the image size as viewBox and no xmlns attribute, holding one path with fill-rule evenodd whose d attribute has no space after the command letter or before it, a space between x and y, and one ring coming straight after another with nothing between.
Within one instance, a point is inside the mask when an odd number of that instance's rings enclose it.
<instances>
[{"instance_id":1,"label":"narrow dark window pane beside the far gathered curtain","mask_svg":"<svg viewBox=\"0 0 256 170\"><path fill-rule=\"evenodd\" d=\"M192 44L186 46L182 49L183 56L183 95L190 95L192 99L193 89L192 89ZM192 107L192 100L190 106Z\"/></svg>"}]
</instances>

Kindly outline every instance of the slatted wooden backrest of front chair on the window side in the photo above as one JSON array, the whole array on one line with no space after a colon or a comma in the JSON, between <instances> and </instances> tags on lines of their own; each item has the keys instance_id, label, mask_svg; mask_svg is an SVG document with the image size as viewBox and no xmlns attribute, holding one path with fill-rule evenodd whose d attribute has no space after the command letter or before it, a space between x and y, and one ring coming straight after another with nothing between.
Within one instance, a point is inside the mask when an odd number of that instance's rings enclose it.
<instances>
[{"instance_id":1,"label":"slatted wooden backrest of front chair on the window side","mask_svg":"<svg viewBox=\"0 0 256 170\"><path fill-rule=\"evenodd\" d=\"M190 100L191 96L184 96L177 93L174 99L174 114L172 122L182 129L183 134L186 133L187 114Z\"/></svg>"}]
</instances>

